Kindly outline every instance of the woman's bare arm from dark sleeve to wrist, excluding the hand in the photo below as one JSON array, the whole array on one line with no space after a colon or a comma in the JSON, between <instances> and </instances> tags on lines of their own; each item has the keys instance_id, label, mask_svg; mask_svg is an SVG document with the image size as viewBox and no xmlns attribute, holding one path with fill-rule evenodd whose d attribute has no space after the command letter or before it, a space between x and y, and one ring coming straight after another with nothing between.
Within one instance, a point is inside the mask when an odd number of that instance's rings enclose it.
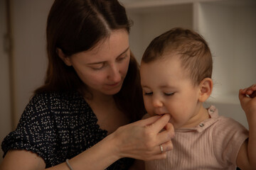
<instances>
[{"instance_id":1,"label":"woman's bare arm from dark sleeve to wrist, excluding the hand","mask_svg":"<svg viewBox=\"0 0 256 170\"><path fill-rule=\"evenodd\" d=\"M90 149L85 150L69 160L74 170L102 170L119 159L115 152L114 135L105 137ZM44 160L33 152L26 150L9 150L0 165L1 170L43 170L46 169ZM66 162L48 168L48 170L70 170Z\"/></svg>"}]
</instances>

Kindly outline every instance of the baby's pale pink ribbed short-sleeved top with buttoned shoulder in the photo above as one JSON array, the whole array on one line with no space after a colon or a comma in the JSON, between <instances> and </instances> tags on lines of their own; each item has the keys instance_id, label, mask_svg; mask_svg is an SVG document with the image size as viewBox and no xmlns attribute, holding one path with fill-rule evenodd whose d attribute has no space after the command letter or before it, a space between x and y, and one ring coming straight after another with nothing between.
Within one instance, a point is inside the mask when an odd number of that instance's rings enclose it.
<instances>
[{"instance_id":1,"label":"baby's pale pink ribbed short-sleeved top with buttoned shoulder","mask_svg":"<svg viewBox=\"0 0 256 170\"><path fill-rule=\"evenodd\" d=\"M196 128L175 130L167 159L146 162L146 170L236 169L236 157L249 133L240 123L208 108L210 118Z\"/></svg>"}]
</instances>

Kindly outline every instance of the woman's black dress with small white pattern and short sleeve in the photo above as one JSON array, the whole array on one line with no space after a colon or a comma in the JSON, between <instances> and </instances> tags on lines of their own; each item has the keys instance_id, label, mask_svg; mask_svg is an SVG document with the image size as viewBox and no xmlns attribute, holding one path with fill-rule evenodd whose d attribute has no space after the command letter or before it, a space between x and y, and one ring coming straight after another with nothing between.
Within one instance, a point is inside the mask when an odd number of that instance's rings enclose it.
<instances>
[{"instance_id":1,"label":"woman's black dress with small white pattern and short sleeve","mask_svg":"<svg viewBox=\"0 0 256 170\"><path fill-rule=\"evenodd\" d=\"M107 136L96 115L78 92L36 94L26 106L18 126L1 144L38 154L46 168L65 162ZM128 169L134 159L123 158L107 169Z\"/></svg>"}]
</instances>

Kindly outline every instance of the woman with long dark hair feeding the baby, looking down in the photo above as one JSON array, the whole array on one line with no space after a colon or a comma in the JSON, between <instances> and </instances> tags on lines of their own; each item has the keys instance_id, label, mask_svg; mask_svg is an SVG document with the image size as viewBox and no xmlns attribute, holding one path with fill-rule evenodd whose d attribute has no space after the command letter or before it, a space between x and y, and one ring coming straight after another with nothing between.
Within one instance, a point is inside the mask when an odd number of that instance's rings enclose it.
<instances>
[{"instance_id":1,"label":"woman with long dark hair feeding the baby, looking down","mask_svg":"<svg viewBox=\"0 0 256 170\"><path fill-rule=\"evenodd\" d=\"M2 143L1 169L129 169L131 158L166 157L169 116L132 123L145 110L129 27L116 0L55 0L46 81Z\"/></svg>"}]
</instances>

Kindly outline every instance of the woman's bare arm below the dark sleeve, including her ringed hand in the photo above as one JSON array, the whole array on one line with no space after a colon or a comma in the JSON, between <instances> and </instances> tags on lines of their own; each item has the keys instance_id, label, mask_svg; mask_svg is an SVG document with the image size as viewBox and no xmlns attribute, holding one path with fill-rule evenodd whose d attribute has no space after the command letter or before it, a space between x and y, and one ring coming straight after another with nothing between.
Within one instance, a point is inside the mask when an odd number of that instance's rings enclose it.
<instances>
[{"instance_id":1,"label":"woman's bare arm below the dark sleeve, including her ringed hand","mask_svg":"<svg viewBox=\"0 0 256 170\"><path fill-rule=\"evenodd\" d=\"M162 144L165 151L171 150L171 138L174 137L174 128L168 123L169 118L169 115L154 116L124 125L90 149L70 159L70 165L75 170L102 170L122 157L164 159L166 152L161 153L159 145ZM160 132L163 128L166 130ZM14 150L6 154L0 169L41 170L45 167L43 159L37 154ZM65 162L50 169L69 170Z\"/></svg>"}]
</instances>

